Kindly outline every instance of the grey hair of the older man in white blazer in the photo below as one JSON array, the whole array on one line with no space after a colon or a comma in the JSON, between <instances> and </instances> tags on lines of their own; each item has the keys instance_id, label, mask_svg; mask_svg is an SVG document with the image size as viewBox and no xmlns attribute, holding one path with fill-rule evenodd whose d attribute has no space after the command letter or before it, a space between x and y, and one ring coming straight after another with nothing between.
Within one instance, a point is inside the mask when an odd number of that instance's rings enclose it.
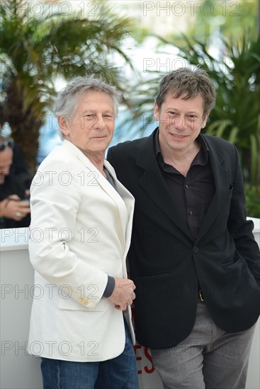
<instances>
[{"instance_id":1,"label":"grey hair of the older man in white blazer","mask_svg":"<svg viewBox=\"0 0 260 389\"><path fill-rule=\"evenodd\" d=\"M118 115L120 93L115 86L96 78L93 74L91 76L77 77L62 89L53 108L55 115L73 117L77 111L79 100L84 93L89 91L99 91L109 95L113 101L114 115L115 117ZM60 137L64 139L62 131L60 131Z\"/></svg>"}]
</instances>

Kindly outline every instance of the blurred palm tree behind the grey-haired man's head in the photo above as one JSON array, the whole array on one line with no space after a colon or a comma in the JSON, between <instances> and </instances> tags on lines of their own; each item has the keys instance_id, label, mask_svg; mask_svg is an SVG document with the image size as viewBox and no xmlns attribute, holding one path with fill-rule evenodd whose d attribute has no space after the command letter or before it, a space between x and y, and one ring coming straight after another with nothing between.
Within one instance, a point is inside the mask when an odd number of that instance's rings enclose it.
<instances>
[{"instance_id":1,"label":"blurred palm tree behind the grey-haired man's head","mask_svg":"<svg viewBox=\"0 0 260 389\"><path fill-rule=\"evenodd\" d=\"M13 139L35 168L38 135L47 108L52 105L57 76L96 74L125 91L118 58L130 66L122 45L132 24L118 18L106 1L96 2L95 16L81 12L61 15L59 8L43 8L35 16L24 0L1 1L0 69L4 116ZM30 8L30 7L29 7Z\"/></svg>"}]
</instances>

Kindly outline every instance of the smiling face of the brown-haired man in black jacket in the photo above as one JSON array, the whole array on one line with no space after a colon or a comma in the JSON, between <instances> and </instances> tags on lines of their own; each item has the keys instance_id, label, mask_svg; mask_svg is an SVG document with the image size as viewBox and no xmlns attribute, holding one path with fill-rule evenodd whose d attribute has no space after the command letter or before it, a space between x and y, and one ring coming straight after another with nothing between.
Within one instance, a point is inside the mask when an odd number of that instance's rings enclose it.
<instances>
[{"instance_id":1,"label":"smiling face of the brown-haired man in black jacket","mask_svg":"<svg viewBox=\"0 0 260 389\"><path fill-rule=\"evenodd\" d=\"M205 127L208 115L203 117L203 99L200 95L183 100L183 95L174 98L166 95L159 112L154 105L154 118L159 120L159 144L162 153L188 151Z\"/></svg>"}]
</instances>

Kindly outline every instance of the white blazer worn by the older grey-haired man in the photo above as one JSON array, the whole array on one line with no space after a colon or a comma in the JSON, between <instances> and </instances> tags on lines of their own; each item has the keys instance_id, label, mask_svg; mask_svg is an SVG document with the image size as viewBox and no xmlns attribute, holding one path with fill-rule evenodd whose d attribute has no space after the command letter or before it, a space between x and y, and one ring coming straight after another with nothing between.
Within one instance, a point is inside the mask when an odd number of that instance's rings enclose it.
<instances>
[{"instance_id":1,"label":"white blazer worn by the older grey-haired man","mask_svg":"<svg viewBox=\"0 0 260 389\"><path fill-rule=\"evenodd\" d=\"M102 296L108 275L127 278L134 197L108 161L105 166L116 190L64 140L33 179L29 252L35 296L29 354L104 361L123 352L123 313ZM129 306L124 314L135 342Z\"/></svg>"}]
</instances>

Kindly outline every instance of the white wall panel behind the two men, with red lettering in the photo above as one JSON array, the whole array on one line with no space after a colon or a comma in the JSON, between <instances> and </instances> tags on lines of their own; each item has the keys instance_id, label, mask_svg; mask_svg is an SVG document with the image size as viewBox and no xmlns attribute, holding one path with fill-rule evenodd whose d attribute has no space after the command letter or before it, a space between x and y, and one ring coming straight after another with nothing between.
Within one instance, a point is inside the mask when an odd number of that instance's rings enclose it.
<instances>
[{"instance_id":1,"label":"white wall panel behind the two men, with red lettering","mask_svg":"<svg viewBox=\"0 0 260 389\"><path fill-rule=\"evenodd\" d=\"M251 218L249 218L251 219ZM254 237L260 246L260 219ZM27 354L30 307L33 301L33 267L28 257L28 229L0 230L1 277L1 381L3 389L42 389L40 358ZM252 301L252 303L254 303ZM259 303L259 301L255 301ZM247 389L259 389L259 321L249 359ZM140 389L161 389L149 349L135 346Z\"/></svg>"}]
</instances>

